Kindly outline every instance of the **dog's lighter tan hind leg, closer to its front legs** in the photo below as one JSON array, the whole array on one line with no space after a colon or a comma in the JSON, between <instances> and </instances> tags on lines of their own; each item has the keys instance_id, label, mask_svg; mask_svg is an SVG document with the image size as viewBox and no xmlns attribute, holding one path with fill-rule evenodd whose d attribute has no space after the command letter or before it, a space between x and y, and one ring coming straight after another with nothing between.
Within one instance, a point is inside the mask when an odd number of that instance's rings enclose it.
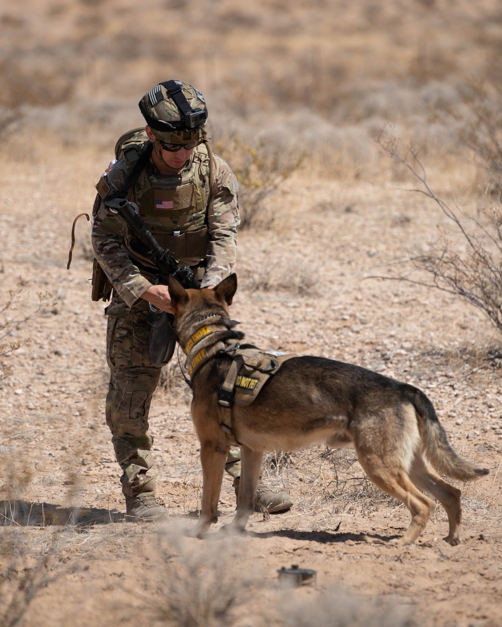
<instances>
[{"instance_id":1,"label":"dog's lighter tan hind leg, closer to its front legs","mask_svg":"<svg viewBox=\"0 0 502 627\"><path fill-rule=\"evenodd\" d=\"M398 540L391 540L392 544L412 544L424 530L435 503L417 490L403 466L396 466L390 460L381 460L373 456L361 456L361 466L373 483L382 488L391 497L398 498L410 510L412 522Z\"/></svg>"}]
</instances>

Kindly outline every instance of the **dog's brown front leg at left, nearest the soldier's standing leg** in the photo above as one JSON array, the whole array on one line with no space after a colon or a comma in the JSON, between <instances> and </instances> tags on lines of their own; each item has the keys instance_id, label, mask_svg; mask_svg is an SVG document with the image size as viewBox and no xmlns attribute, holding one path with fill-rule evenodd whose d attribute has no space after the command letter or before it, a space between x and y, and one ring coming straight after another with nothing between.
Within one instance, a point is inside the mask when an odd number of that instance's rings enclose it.
<instances>
[{"instance_id":1,"label":"dog's brown front leg at left, nearest the soldier's standing leg","mask_svg":"<svg viewBox=\"0 0 502 627\"><path fill-rule=\"evenodd\" d=\"M218 500L222 489L223 471L227 461L228 446L217 441L205 441L200 447L202 465L202 512L194 533L203 537L211 523L218 520Z\"/></svg>"}]
</instances>

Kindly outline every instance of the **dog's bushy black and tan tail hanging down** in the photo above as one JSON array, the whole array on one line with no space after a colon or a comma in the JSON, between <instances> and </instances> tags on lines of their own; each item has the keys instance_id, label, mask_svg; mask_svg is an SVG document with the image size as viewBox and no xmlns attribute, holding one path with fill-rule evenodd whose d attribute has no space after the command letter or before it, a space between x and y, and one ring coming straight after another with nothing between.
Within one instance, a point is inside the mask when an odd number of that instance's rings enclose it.
<instances>
[{"instance_id":1,"label":"dog's bushy black and tan tail hanging down","mask_svg":"<svg viewBox=\"0 0 502 627\"><path fill-rule=\"evenodd\" d=\"M444 428L437 418L434 406L429 398L419 389L414 388L412 399L419 416L419 429L425 456L439 472L461 481L472 481L488 475L487 468L475 466L470 461L462 460L451 448Z\"/></svg>"}]
</instances>

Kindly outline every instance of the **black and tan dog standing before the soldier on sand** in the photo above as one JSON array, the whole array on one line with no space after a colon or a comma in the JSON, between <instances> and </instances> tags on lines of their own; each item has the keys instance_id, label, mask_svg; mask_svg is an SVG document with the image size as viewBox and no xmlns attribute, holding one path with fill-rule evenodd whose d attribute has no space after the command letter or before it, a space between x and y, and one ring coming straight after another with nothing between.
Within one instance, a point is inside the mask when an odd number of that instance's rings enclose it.
<instances>
[{"instance_id":1,"label":"black and tan dog standing before the soldier on sand","mask_svg":"<svg viewBox=\"0 0 502 627\"><path fill-rule=\"evenodd\" d=\"M184 290L169 281L176 314L178 341L189 352L193 339L208 359L193 376L191 414L200 440L203 470L201 537L216 522L218 498L228 448L240 446L242 473L237 514L232 527L243 530L254 511L254 495L265 451L293 451L325 442L332 448L353 446L366 475L412 515L407 532L394 544L414 542L429 520L435 503L446 509L446 541L460 542L461 492L430 468L461 481L488 474L454 453L429 398L416 387L352 364L323 357L292 357L270 377L254 403L231 410L232 436L223 430L228 409L218 404L232 358L225 350L211 350L218 342L240 340L228 307L237 290L235 274L214 289ZM209 326L208 326L209 325ZM210 329L212 325L212 329ZM204 329L202 332L201 329ZM210 330L208 330L210 329ZM203 338L200 340L200 336ZM199 353L200 354L200 353Z\"/></svg>"}]
</instances>

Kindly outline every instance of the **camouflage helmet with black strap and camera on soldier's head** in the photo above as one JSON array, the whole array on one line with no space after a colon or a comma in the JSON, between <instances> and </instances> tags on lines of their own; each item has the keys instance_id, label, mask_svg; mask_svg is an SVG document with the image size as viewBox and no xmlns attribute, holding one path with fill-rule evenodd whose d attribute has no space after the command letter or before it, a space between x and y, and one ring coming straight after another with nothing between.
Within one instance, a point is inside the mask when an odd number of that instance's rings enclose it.
<instances>
[{"instance_id":1,"label":"camouflage helmet with black strap and camera on soldier's head","mask_svg":"<svg viewBox=\"0 0 502 627\"><path fill-rule=\"evenodd\" d=\"M204 139L208 110L198 89L181 80L159 83L139 101L152 133L168 144Z\"/></svg>"}]
</instances>

